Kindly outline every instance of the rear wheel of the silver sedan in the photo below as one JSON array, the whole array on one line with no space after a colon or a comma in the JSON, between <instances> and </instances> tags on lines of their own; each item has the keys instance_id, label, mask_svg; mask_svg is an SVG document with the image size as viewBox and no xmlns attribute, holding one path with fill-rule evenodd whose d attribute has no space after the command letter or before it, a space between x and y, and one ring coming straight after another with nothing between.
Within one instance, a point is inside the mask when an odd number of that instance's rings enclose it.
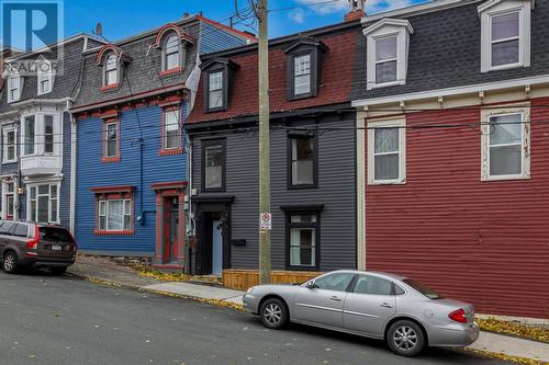
<instances>
[{"instance_id":1,"label":"rear wheel of the silver sedan","mask_svg":"<svg viewBox=\"0 0 549 365\"><path fill-rule=\"evenodd\" d=\"M416 323L401 320L391 326L386 333L389 347L402 356L415 356L425 346L425 335Z\"/></svg>"}]
</instances>

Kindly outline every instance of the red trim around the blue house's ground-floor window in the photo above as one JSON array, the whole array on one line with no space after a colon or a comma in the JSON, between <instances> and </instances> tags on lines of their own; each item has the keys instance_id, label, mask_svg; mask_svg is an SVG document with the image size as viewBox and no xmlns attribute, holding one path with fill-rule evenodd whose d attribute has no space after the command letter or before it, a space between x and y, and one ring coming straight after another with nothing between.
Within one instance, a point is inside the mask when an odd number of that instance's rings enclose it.
<instances>
[{"instance_id":1,"label":"red trim around the blue house's ground-floor window","mask_svg":"<svg viewBox=\"0 0 549 365\"><path fill-rule=\"evenodd\" d=\"M96 217L94 217L94 236L133 236L135 233L135 186L121 185L121 186L101 186L90 189L96 194ZM99 229L99 202L113 199L131 199L132 201L132 215L131 215L131 229L124 230L107 230ZM105 207L107 209L107 207Z\"/></svg>"}]
</instances>

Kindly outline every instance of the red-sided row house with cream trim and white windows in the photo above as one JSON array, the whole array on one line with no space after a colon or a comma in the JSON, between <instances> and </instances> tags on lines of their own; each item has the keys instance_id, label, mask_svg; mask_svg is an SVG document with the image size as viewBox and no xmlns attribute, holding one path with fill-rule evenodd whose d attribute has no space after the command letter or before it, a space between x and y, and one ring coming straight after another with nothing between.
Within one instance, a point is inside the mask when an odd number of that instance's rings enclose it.
<instances>
[{"instance_id":1,"label":"red-sided row house with cream trim and white windows","mask_svg":"<svg viewBox=\"0 0 549 365\"><path fill-rule=\"evenodd\" d=\"M365 16L358 266L494 315L549 317L549 2Z\"/></svg>"}]
</instances>

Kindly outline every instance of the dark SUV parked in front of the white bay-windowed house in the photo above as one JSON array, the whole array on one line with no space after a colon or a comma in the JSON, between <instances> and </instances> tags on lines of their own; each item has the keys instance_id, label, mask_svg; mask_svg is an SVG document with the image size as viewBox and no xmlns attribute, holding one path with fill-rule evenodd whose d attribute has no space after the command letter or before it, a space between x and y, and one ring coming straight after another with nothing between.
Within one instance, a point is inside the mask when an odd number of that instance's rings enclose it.
<instances>
[{"instance_id":1,"label":"dark SUV parked in front of the white bay-windowed house","mask_svg":"<svg viewBox=\"0 0 549 365\"><path fill-rule=\"evenodd\" d=\"M63 275L75 263L76 241L61 227L26 221L0 220L2 270L15 273L22 266L48 267Z\"/></svg>"}]
</instances>

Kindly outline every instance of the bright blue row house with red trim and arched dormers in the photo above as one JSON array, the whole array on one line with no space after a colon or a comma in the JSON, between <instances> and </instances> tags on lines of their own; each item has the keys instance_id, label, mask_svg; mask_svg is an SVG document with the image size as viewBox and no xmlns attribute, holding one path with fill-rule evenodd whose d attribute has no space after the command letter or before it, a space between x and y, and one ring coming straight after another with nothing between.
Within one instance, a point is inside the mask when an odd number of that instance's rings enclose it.
<instances>
[{"instance_id":1,"label":"bright blue row house with red trim and arched dormers","mask_svg":"<svg viewBox=\"0 0 549 365\"><path fill-rule=\"evenodd\" d=\"M76 118L76 224L81 252L186 266L182 125L199 55L255 42L201 15L85 53Z\"/></svg>"}]
</instances>

